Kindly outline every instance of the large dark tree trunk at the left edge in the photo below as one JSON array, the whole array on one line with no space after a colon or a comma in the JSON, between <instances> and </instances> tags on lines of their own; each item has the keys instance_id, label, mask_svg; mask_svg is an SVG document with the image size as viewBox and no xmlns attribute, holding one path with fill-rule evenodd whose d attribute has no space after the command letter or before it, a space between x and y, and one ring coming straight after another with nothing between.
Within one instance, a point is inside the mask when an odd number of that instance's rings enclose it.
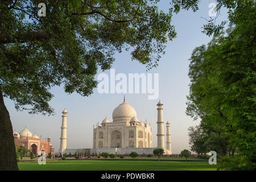
<instances>
[{"instance_id":1,"label":"large dark tree trunk at the left edge","mask_svg":"<svg viewBox=\"0 0 256 182\"><path fill-rule=\"evenodd\" d=\"M19 170L13 138L13 126L0 85L0 170Z\"/></svg>"}]
</instances>

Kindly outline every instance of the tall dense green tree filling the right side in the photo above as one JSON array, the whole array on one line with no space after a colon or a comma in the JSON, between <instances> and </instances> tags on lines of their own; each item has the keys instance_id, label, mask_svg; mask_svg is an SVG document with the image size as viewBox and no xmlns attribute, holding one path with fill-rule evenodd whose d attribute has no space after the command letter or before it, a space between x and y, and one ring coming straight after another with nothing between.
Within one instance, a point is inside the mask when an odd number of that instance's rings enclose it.
<instances>
[{"instance_id":1,"label":"tall dense green tree filling the right side","mask_svg":"<svg viewBox=\"0 0 256 182\"><path fill-rule=\"evenodd\" d=\"M187 114L200 118L208 137L202 144L229 156L220 168L254 170L255 2L244 1L230 18L233 26L192 53Z\"/></svg>"}]
</instances>

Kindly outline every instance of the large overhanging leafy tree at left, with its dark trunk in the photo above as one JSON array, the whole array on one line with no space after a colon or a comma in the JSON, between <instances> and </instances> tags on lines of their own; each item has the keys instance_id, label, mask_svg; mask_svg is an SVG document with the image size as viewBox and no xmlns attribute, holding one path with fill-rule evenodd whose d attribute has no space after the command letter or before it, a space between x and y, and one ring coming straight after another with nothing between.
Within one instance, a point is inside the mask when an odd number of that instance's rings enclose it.
<instances>
[{"instance_id":1,"label":"large overhanging leafy tree at left, with its dark trunk","mask_svg":"<svg viewBox=\"0 0 256 182\"><path fill-rule=\"evenodd\" d=\"M3 97L17 110L54 114L53 86L89 96L97 69L110 69L114 53L132 48L131 57L156 67L167 40L176 37L171 13L157 0L46 2L7 1L0 6L0 169L18 170L13 127Z\"/></svg>"}]
</instances>

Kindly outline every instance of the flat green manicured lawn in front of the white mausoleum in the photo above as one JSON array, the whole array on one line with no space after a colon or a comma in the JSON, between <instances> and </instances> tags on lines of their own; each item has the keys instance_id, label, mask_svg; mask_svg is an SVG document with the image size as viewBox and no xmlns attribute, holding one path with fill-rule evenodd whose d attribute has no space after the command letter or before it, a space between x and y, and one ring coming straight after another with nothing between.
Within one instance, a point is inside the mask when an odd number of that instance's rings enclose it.
<instances>
[{"instance_id":1,"label":"flat green manicured lawn in front of the white mausoleum","mask_svg":"<svg viewBox=\"0 0 256 182\"><path fill-rule=\"evenodd\" d=\"M208 162L176 162L176 161L141 161L141 160L59 160L47 161L46 165L37 162L19 162L19 170L75 170L75 171L207 171L216 170L217 165L209 165Z\"/></svg>"}]
</instances>

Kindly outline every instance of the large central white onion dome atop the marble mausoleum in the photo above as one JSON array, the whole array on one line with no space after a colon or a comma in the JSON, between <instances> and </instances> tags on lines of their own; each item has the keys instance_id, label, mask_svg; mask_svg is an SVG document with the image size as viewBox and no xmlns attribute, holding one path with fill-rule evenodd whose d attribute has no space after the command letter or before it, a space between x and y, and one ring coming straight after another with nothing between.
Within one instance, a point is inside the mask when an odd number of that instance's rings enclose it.
<instances>
[{"instance_id":1,"label":"large central white onion dome atop the marble mausoleum","mask_svg":"<svg viewBox=\"0 0 256 182\"><path fill-rule=\"evenodd\" d=\"M137 117L135 109L127 104L125 101L119 106L115 107L112 118L113 122L130 122L132 117Z\"/></svg>"}]
</instances>

